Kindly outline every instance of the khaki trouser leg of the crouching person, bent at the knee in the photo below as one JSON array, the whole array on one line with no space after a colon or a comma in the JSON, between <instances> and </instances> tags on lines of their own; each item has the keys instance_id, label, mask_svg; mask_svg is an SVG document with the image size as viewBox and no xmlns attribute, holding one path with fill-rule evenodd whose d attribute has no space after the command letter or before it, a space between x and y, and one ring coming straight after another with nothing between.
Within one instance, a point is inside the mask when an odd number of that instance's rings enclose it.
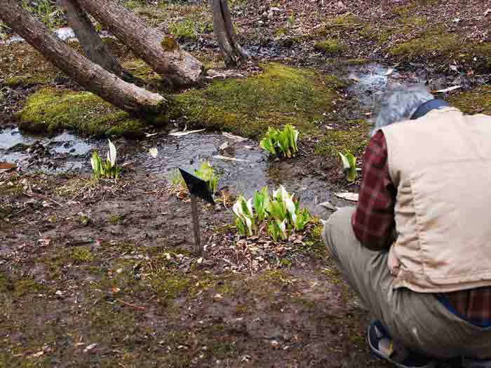
<instances>
[{"instance_id":1,"label":"khaki trouser leg of the crouching person, bent at the knee","mask_svg":"<svg viewBox=\"0 0 491 368\"><path fill-rule=\"evenodd\" d=\"M437 358L491 357L491 329L457 318L432 294L393 289L387 252L361 246L351 227L354 207L332 214L323 238L332 259L372 318L382 321L396 343Z\"/></svg>"}]
</instances>

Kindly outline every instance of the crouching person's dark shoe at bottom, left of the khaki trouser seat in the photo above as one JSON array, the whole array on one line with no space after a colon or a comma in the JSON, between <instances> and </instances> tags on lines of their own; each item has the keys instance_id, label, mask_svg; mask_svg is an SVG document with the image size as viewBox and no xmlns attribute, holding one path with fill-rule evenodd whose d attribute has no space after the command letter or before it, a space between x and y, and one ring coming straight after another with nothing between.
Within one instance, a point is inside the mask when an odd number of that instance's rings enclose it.
<instances>
[{"instance_id":1,"label":"crouching person's dark shoe at bottom, left of the khaki trouser seat","mask_svg":"<svg viewBox=\"0 0 491 368\"><path fill-rule=\"evenodd\" d=\"M372 322L368 326L367 342L372 353L396 367L435 368L435 362L428 357L412 353L402 347L394 348L394 341L380 321Z\"/></svg>"}]
</instances>

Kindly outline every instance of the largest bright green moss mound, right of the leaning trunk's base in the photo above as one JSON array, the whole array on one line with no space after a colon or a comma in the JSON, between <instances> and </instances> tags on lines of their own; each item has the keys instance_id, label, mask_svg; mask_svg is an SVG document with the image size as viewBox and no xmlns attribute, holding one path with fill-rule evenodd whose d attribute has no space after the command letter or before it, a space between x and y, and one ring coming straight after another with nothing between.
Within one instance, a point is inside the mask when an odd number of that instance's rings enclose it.
<instances>
[{"instance_id":1,"label":"largest bright green moss mound, right of the leaning trunk's base","mask_svg":"<svg viewBox=\"0 0 491 368\"><path fill-rule=\"evenodd\" d=\"M187 116L194 125L257 137L268 126L295 125L309 131L332 110L337 94L333 79L311 69L265 64L264 72L248 79L213 81L206 88L175 95L173 118Z\"/></svg>"}]
</instances>

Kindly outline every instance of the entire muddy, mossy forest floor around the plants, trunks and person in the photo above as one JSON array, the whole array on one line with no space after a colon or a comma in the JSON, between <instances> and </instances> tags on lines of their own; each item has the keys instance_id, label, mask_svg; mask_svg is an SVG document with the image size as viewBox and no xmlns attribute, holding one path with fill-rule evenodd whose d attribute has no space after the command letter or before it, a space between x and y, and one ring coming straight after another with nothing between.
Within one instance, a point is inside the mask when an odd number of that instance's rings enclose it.
<instances>
[{"instance_id":1,"label":"entire muddy, mossy forest floor around the plants, trunks and person","mask_svg":"<svg viewBox=\"0 0 491 368\"><path fill-rule=\"evenodd\" d=\"M491 114L489 6L230 2L238 38L257 58L232 73L201 2L125 4L236 79L170 92L105 40L142 85L180 103L173 130L204 133L173 137L121 117L27 44L8 43L10 34L0 44L0 161L18 165L0 170L0 367L388 367L368 352L368 315L325 253L319 218L330 212L318 204L354 205L335 196L359 184L344 180L337 153L361 162L389 83L460 86L442 96ZM64 26L62 17L49 22ZM94 130L95 121L105 123ZM257 138L284 123L300 129L300 154L274 161ZM105 155L102 136L118 147L122 179L90 178L90 151ZM196 257L189 198L172 177L205 158L221 175L220 195L215 206L200 203L205 250ZM285 242L238 236L234 198L279 184L316 215L305 233Z\"/></svg>"}]
</instances>

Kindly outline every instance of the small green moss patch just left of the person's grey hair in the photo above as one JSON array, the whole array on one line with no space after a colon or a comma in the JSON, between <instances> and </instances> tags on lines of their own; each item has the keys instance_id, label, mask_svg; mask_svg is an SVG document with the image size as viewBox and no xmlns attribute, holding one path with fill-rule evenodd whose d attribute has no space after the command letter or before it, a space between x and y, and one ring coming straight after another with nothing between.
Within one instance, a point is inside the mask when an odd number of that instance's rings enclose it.
<instances>
[{"instance_id":1,"label":"small green moss patch just left of the person's grey hair","mask_svg":"<svg viewBox=\"0 0 491 368\"><path fill-rule=\"evenodd\" d=\"M316 144L316 154L336 157L339 152L350 151L355 156L363 154L368 143L370 123L364 120L349 122L347 130L326 130Z\"/></svg>"}]
</instances>

